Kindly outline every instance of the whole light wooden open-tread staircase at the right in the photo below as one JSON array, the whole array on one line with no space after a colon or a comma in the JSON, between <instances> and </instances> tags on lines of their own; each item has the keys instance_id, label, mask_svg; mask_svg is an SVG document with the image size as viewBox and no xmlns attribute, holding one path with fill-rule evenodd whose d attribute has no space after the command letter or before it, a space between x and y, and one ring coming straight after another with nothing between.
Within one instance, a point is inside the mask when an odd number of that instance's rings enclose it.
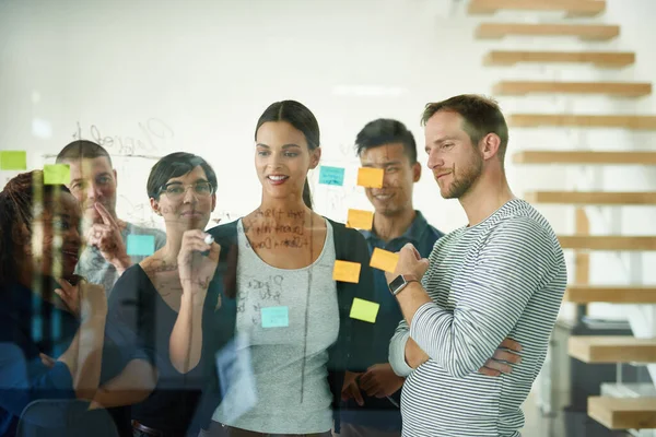
<instances>
[{"instance_id":1,"label":"whole light wooden open-tread staircase at the right","mask_svg":"<svg viewBox=\"0 0 656 437\"><path fill-rule=\"evenodd\" d=\"M606 9L605 1L595 0L470 0L470 14L493 14L503 10L524 12L562 12L564 16L595 16ZM620 35L620 27L604 23L520 23L482 22L476 28L478 39L505 37L553 38L571 37L582 40L608 42ZM542 39L544 40L544 39ZM548 44L544 42L540 47ZM622 69L635 63L632 51L585 50L564 51L548 49L492 49L484 55L488 67L513 67L518 63L539 64L564 69L587 67ZM494 84L495 96L562 95L563 97L598 95L636 98L652 94L648 82L571 82L538 80L502 80ZM656 116L651 115L593 115L593 114L512 114L506 117L509 127L520 128L619 128L640 131L656 130ZM541 151L526 150L514 154L513 162L522 165L656 165L656 151ZM656 285L591 285L589 281L590 251L654 251L656 236L590 235L586 208L617 208L623 205L656 205L656 192L599 192L535 190L525 193L534 203L560 204L575 208L574 235L560 235L563 249L574 251L574 277L564 300L579 307L593 303L656 304ZM572 357L585 363L656 363L656 338L631 336L572 336L569 342ZM610 429L656 428L656 398L623 399L588 398L588 415Z\"/></svg>"}]
</instances>

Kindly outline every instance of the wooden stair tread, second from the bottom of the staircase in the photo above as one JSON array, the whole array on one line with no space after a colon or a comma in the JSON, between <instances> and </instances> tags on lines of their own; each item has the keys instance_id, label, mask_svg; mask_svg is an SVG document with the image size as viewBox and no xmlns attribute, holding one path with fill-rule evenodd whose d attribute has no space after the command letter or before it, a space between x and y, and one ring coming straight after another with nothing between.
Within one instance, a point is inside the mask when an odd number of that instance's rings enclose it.
<instances>
[{"instance_id":1,"label":"wooden stair tread, second from the bottom of the staircase","mask_svg":"<svg viewBox=\"0 0 656 437\"><path fill-rule=\"evenodd\" d=\"M572 335L567 352L584 363L656 363L656 339Z\"/></svg>"}]
</instances>

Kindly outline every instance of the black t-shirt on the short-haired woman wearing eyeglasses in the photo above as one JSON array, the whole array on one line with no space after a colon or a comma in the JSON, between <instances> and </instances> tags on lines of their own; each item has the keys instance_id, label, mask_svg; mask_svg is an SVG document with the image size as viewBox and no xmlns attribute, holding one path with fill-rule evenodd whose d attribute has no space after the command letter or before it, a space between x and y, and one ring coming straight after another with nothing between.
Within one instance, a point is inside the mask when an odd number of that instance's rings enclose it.
<instances>
[{"instance_id":1,"label":"black t-shirt on the short-haired woman wearing eyeglasses","mask_svg":"<svg viewBox=\"0 0 656 437\"><path fill-rule=\"evenodd\" d=\"M177 312L155 290L141 265L124 272L109 297L113 319L136 333L134 350L144 352L157 369L157 383L143 402L131 406L132 420L151 428L185 433L202 389L201 369L178 373L168 357L171 332ZM207 382L207 380L206 380Z\"/></svg>"}]
</instances>

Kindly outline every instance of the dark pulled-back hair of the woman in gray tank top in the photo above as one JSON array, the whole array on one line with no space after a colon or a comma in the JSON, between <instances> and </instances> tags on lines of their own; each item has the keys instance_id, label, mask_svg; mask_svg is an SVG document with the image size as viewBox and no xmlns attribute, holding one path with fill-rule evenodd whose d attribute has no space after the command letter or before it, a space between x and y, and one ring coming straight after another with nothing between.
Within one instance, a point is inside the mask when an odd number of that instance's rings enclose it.
<instances>
[{"instance_id":1,"label":"dark pulled-back hair of the woman in gray tank top","mask_svg":"<svg viewBox=\"0 0 656 437\"><path fill-rule=\"evenodd\" d=\"M282 101L271 104L265 109L259 120L257 120L257 126L255 128L256 140L257 130L268 121L286 121L295 129L303 132L305 141L307 141L307 147L311 152L321 144L319 123L314 114L312 114L312 111L302 103L296 101ZM307 178L303 186L303 202L312 210L312 193L309 192Z\"/></svg>"}]
</instances>

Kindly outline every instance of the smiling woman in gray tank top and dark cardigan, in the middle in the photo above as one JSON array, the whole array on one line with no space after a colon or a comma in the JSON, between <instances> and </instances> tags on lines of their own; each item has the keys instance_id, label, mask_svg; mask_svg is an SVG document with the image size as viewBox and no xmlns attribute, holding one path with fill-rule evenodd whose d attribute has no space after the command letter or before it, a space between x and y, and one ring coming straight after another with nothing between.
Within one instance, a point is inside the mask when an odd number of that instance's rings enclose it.
<instances>
[{"instance_id":1,"label":"smiling woman in gray tank top and dark cardigan, in the middle","mask_svg":"<svg viewBox=\"0 0 656 437\"><path fill-rule=\"evenodd\" d=\"M255 141L259 208L209 231L223 248L235 248L236 287L220 297L234 298L232 314L224 302L214 315L222 328L213 335L225 335L226 327L234 332L216 350L222 399L200 435L330 436L344 370L368 364L354 359L366 355L366 341L356 338L367 323L349 318L353 298L367 299L373 288L368 249L356 231L312 210L307 173L321 153L309 109L272 104ZM361 264L359 284L349 287L332 279L347 252Z\"/></svg>"}]
</instances>

